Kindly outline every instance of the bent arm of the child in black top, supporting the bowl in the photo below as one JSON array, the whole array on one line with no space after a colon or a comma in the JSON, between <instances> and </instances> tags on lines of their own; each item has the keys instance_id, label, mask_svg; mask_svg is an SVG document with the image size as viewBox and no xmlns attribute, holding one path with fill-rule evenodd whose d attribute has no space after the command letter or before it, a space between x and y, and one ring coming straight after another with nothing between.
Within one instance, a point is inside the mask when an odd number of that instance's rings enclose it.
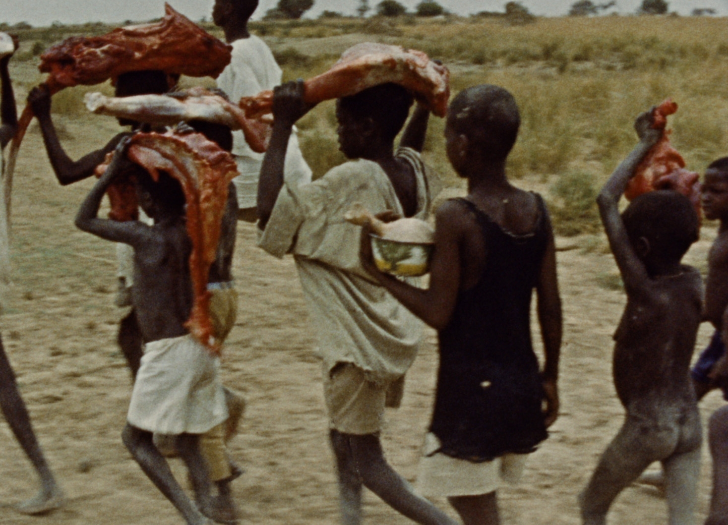
<instances>
[{"instance_id":1,"label":"bent arm of the child in black top, supporting the bowl","mask_svg":"<svg viewBox=\"0 0 728 525\"><path fill-rule=\"evenodd\" d=\"M371 254L371 229L368 226L363 227L360 238L360 258L364 269L410 312L437 330L442 330L449 323L460 286L460 244L464 228L460 208L452 202L445 202L435 215L435 250L430 261L430 286L426 290L408 285L377 269Z\"/></svg>"}]
</instances>

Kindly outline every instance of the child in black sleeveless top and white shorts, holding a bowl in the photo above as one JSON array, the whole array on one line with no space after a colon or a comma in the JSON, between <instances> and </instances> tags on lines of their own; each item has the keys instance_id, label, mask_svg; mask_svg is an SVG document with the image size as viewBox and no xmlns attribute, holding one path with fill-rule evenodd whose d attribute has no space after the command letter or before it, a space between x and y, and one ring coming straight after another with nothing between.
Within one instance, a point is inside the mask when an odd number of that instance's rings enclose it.
<instances>
[{"instance_id":1,"label":"child in black sleeveless top and white shorts, holding a bowl","mask_svg":"<svg viewBox=\"0 0 728 525\"><path fill-rule=\"evenodd\" d=\"M446 151L467 178L468 194L438 208L429 288L379 272L371 230L361 237L365 269L438 330L435 409L417 485L425 495L448 497L466 525L499 523L500 480L518 480L526 454L558 415L561 300L553 232L542 198L512 186L505 173L519 125L515 100L501 87L470 87L452 101ZM531 347L534 288L542 372Z\"/></svg>"}]
</instances>

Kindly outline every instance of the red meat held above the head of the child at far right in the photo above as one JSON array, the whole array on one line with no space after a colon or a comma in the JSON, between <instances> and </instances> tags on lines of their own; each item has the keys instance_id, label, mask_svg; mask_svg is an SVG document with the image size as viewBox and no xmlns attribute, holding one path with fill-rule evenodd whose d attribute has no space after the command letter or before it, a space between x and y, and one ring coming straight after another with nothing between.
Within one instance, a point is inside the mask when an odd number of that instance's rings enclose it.
<instances>
[{"instance_id":1,"label":"red meat held above the head of the child at far right","mask_svg":"<svg viewBox=\"0 0 728 525\"><path fill-rule=\"evenodd\" d=\"M677 109L678 105L670 98L652 108L652 129L662 130L662 137L637 166L625 189L625 197L633 200L653 189L672 189L688 197L700 215L700 175L684 169L685 159L670 144L671 130L665 130L668 115Z\"/></svg>"}]
</instances>

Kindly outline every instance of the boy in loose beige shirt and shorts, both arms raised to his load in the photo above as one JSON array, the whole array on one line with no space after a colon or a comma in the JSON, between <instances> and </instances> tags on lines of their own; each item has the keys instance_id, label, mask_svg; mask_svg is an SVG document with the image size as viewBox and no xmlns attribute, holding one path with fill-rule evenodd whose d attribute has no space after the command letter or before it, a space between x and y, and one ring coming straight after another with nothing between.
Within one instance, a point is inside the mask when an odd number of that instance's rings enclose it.
<instances>
[{"instance_id":1,"label":"boy in loose beige shirt and shorts, both arms raised to his load","mask_svg":"<svg viewBox=\"0 0 728 525\"><path fill-rule=\"evenodd\" d=\"M397 84L371 87L336 102L339 144L349 159L309 184L284 184L293 124L312 106L302 82L274 92L273 134L258 186L259 245L293 253L323 358L324 397L339 478L341 521L360 524L366 486L420 524L454 524L411 491L384 459L379 433L387 391L400 386L415 358L422 325L361 267L360 227L344 221L353 202L373 213L422 218L430 205L422 151L429 113L418 106L400 142L411 95Z\"/></svg>"}]
</instances>

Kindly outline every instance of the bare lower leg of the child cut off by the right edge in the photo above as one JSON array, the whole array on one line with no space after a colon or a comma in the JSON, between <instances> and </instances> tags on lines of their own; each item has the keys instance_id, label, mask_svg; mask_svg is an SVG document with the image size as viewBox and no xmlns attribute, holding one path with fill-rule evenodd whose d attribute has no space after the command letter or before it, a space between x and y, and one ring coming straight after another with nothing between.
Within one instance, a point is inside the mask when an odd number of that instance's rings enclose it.
<instances>
[{"instance_id":1,"label":"bare lower leg of the child cut off by the right edge","mask_svg":"<svg viewBox=\"0 0 728 525\"><path fill-rule=\"evenodd\" d=\"M705 525L728 525L728 406L719 408L708 423L713 458L711 511Z\"/></svg>"}]
</instances>

